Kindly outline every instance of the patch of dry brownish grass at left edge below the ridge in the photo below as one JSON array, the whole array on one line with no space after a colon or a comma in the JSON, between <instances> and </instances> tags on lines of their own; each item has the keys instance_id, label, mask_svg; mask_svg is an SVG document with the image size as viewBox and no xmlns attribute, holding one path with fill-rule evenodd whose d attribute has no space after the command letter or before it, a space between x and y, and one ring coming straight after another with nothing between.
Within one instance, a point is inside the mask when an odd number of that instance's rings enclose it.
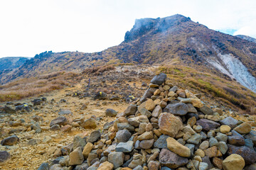
<instances>
[{"instance_id":1,"label":"patch of dry brownish grass at left edge below the ridge","mask_svg":"<svg viewBox=\"0 0 256 170\"><path fill-rule=\"evenodd\" d=\"M0 86L0 102L20 100L21 98L62 89L64 86L75 83L74 80L78 79L80 79L79 74L73 72L54 72L41 77L19 79Z\"/></svg>"}]
</instances>

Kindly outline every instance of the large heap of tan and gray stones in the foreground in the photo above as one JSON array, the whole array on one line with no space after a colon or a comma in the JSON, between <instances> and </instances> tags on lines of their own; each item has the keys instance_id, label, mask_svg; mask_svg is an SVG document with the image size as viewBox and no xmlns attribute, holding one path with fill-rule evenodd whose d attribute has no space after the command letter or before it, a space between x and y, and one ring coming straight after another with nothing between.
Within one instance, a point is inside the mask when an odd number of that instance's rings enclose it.
<instances>
[{"instance_id":1,"label":"large heap of tan and gray stones in the foreground","mask_svg":"<svg viewBox=\"0 0 256 170\"><path fill-rule=\"evenodd\" d=\"M256 169L256 132L158 74L144 96L39 169Z\"/></svg>"}]
</instances>

